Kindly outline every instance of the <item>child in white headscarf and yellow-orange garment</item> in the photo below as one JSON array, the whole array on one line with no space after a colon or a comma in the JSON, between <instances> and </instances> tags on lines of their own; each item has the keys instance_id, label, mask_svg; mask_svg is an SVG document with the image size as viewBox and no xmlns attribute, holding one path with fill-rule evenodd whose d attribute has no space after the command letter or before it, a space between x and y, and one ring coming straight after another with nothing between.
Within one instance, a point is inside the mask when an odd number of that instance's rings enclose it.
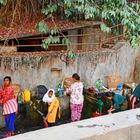
<instances>
[{"instance_id":1,"label":"child in white headscarf and yellow-orange garment","mask_svg":"<svg viewBox=\"0 0 140 140\"><path fill-rule=\"evenodd\" d=\"M55 97L55 91L49 89L43 97L43 102L48 103L48 113L44 118L44 121L48 122L48 126L54 126L56 123L57 113L60 118L59 101Z\"/></svg>"}]
</instances>

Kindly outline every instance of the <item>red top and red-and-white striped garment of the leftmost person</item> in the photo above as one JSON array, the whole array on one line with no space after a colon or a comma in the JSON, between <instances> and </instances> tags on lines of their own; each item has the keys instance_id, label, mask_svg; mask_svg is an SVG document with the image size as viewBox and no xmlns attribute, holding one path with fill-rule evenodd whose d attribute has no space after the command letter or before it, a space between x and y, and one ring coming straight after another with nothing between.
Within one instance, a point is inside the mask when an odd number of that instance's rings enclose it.
<instances>
[{"instance_id":1,"label":"red top and red-and-white striped garment of the leftmost person","mask_svg":"<svg viewBox=\"0 0 140 140\"><path fill-rule=\"evenodd\" d=\"M3 104L3 114L15 113L18 110L18 104L14 95L14 90L11 86L2 87L0 91L0 103Z\"/></svg>"}]
</instances>

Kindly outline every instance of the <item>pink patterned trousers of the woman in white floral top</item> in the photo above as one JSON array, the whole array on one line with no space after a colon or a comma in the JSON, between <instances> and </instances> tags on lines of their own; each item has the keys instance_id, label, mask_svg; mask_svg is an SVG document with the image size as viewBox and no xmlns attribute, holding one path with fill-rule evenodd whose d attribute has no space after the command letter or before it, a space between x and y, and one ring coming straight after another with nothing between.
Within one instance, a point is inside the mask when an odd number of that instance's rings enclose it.
<instances>
[{"instance_id":1,"label":"pink patterned trousers of the woman in white floral top","mask_svg":"<svg viewBox=\"0 0 140 140\"><path fill-rule=\"evenodd\" d=\"M70 108L71 108L71 121L79 121L81 119L83 104L70 104Z\"/></svg>"}]
</instances>

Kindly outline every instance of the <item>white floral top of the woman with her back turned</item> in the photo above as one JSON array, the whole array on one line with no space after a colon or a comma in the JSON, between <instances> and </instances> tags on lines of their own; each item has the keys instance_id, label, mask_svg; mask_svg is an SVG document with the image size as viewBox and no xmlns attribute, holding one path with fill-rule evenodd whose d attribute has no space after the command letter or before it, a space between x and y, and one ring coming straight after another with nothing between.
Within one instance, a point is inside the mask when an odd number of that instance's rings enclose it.
<instances>
[{"instance_id":1,"label":"white floral top of the woman with her back turned","mask_svg":"<svg viewBox=\"0 0 140 140\"><path fill-rule=\"evenodd\" d=\"M70 94L70 103L72 104L83 104L84 96L83 96L83 83L75 82L71 85L67 92Z\"/></svg>"}]
</instances>

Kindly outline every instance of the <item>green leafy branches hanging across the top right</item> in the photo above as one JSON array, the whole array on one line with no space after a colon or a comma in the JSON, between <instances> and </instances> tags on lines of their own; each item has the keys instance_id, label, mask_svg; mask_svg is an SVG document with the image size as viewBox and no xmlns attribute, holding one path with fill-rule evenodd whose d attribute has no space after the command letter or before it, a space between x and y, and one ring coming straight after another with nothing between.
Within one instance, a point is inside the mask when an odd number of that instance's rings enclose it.
<instances>
[{"instance_id":1,"label":"green leafy branches hanging across the top right","mask_svg":"<svg viewBox=\"0 0 140 140\"><path fill-rule=\"evenodd\" d=\"M64 19L76 17L82 14L85 20L103 21L101 30L109 33L109 26L121 23L125 28L125 34L132 47L138 46L140 40L140 4L128 3L127 0L58 0L56 3L47 5L42 12L53 17L54 14L60 13L63 9L62 16ZM45 32L43 30L43 32ZM51 35L58 34L59 31L51 31ZM115 35L119 34L119 30L113 31ZM67 39L62 40L63 44L69 45Z\"/></svg>"}]
</instances>

